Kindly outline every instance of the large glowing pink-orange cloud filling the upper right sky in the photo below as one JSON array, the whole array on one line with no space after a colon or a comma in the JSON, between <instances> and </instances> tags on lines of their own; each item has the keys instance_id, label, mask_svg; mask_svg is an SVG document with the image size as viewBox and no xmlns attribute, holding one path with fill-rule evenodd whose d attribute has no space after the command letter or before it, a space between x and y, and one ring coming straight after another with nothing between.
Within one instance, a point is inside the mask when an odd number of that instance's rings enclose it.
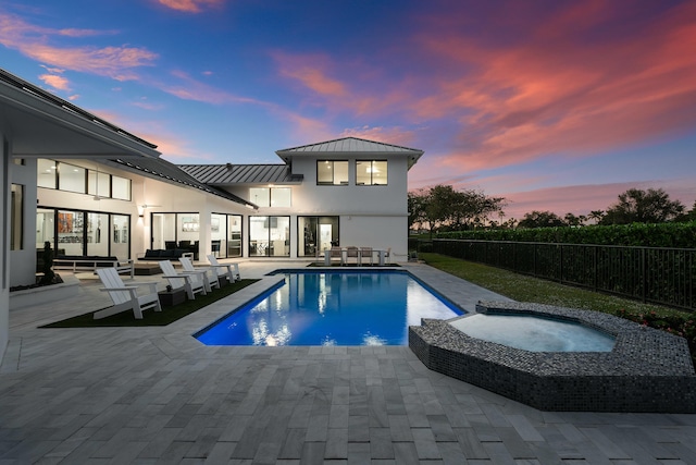
<instances>
[{"instance_id":1,"label":"large glowing pink-orange cloud filling the upper right sky","mask_svg":"<svg viewBox=\"0 0 696 465\"><path fill-rule=\"evenodd\" d=\"M587 45L568 34L569 24L582 30L614 17L611 7L572 4L542 17L544 27L519 45L485 47L460 33L425 35L430 53L462 70L457 78L438 79L433 96L411 106L423 118L459 115L460 150L449 166L490 168L551 154L595 154L693 131L694 3L638 37ZM537 26L534 20L531 26Z\"/></svg>"}]
</instances>

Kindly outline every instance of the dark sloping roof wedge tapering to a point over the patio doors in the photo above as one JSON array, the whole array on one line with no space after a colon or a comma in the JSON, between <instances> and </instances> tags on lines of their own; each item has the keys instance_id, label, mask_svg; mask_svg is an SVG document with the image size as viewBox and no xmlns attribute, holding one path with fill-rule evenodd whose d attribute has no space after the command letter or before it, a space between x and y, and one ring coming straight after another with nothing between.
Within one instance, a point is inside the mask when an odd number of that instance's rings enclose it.
<instances>
[{"instance_id":1,"label":"dark sloping roof wedge tapering to a point over the patio doors","mask_svg":"<svg viewBox=\"0 0 696 465\"><path fill-rule=\"evenodd\" d=\"M259 208L251 201L245 200L244 198L231 194L226 191L207 185L206 183L198 181L194 176L189 175L186 171L179 169L176 164L170 163L169 161L161 158L138 160L123 160L119 158L111 161L120 164L123 169L136 171L138 172L138 174L146 175L148 178L197 188L207 194L216 195L217 197L222 197L227 200L241 204L244 206Z\"/></svg>"}]
</instances>

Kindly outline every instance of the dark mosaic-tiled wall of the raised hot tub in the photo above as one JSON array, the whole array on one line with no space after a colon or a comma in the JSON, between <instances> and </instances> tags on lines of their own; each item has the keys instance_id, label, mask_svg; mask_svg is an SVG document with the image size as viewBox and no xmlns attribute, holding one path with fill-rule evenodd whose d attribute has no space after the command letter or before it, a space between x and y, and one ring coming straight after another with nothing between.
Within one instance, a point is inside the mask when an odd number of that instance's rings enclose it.
<instances>
[{"instance_id":1,"label":"dark mosaic-tiled wall of the raised hot tub","mask_svg":"<svg viewBox=\"0 0 696 465\"><path fill-rule=\"evenodd\" d=\"M443 320L409 328L434 371L543 411L696 413L696 374L683 338L597 311L482 302L478 313L576 321L616 335L611 352L527 352L471 338Z\"/></svg>"}]
</instances>

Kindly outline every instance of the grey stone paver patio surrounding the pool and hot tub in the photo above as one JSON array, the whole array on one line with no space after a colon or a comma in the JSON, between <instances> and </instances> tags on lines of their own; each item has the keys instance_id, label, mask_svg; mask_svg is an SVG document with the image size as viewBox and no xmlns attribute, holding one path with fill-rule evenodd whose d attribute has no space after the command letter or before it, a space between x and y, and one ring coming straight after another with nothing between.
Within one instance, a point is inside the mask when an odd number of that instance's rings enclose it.
<instances>
[{"instance_id":1,"label":"grey stone paver patio surrounding the pool and hot tub","mask_svg":"<svg viewBox=\"0 0 696 465\"><path fill-rule=\"evenodd\" d=\"M500 298L406 268L465 308ZM696 415L540 412L430 371L409 347L191 338L274 280L163 328L37 329L108 305L98 281L69 302L11 311L0 464L696 464Z\"/></svg>"}]
</instances>

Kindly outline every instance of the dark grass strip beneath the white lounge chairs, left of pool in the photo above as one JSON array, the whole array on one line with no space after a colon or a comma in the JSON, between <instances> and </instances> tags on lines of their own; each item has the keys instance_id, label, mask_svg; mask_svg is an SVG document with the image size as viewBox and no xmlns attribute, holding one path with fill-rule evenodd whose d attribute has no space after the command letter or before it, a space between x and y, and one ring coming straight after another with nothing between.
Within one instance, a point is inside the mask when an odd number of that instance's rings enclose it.
<instances>
[{"instance_id":1,"label":"dark grass strip beneath the white lounge chairs, left of pool","mask_svg":"<svg viewBox=\"0 0 696 465\"><path fill-rule=\"evenodd\" d=\"M42 326L40 328L104 328L104 327L151 327L166 326L187 315L192 314L223 297L253 284L258 279L243 279L240 281L227 284L222 289L215 289L207 295L197 295L192 301L186 301L173 307L162 307L162 311L146 310L142 319L135 319L133 310L122 311L107 318L94 319L94 311L89 311L77 317L67 318Z\"/></svg>"}]
</instances>

